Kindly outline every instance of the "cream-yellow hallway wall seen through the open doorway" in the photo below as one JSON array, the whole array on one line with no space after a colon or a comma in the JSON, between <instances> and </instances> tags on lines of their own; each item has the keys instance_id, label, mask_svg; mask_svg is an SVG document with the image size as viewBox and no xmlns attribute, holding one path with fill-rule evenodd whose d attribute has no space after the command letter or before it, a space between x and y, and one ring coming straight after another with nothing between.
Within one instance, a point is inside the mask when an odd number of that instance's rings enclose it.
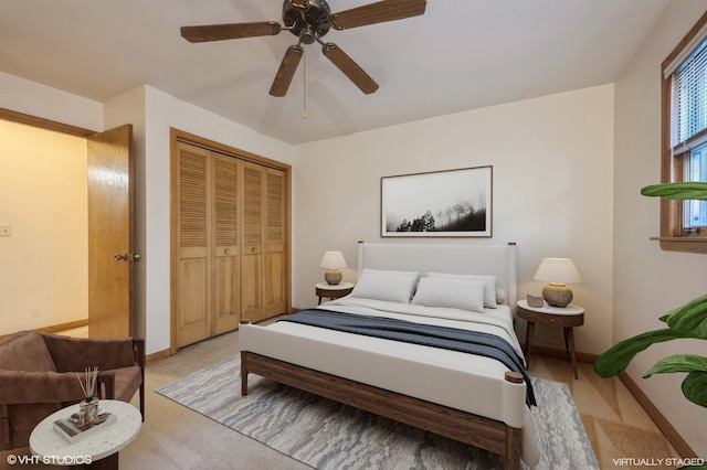
<instances>
[{"instance_id":1,"label":"cream-yellow hallway wall seen through the open doorway","mask_svg":"<svg viewBox=\"0 0 707 470\"><path fill-rule=\"evenodd\" d=\"M0 334L88 314L86 140L0 120Z\"/></svg>"}]
</instances>

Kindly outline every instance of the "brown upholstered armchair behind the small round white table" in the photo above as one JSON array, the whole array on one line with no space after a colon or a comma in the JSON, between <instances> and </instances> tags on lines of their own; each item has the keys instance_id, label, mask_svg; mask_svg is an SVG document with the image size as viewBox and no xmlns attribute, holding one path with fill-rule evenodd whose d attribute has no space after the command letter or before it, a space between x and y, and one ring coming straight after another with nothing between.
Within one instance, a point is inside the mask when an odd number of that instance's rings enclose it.
<instances>
[{"instance_id":1,"label":"brown upholstered armchair behind the small round white table","mask_svg":"<svg viewBox=\"0 0 707 470\"><path fill-rule=\"evenodd\" d=\"M0 450L29 445L46 416L84 398L75 372L97 366L98 398L129 402L145 419L145 340L20 331L0 340Z\"/></svg>"}]
</instances>

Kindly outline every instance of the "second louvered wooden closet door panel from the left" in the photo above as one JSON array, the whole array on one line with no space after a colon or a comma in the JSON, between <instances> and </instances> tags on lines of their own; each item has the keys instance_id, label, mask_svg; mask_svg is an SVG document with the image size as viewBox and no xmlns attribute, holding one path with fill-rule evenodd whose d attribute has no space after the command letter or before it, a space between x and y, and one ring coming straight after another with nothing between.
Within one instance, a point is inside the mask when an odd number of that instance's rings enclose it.
<instances>
[{"instance_id":1,"label":"second louvered wooden closet door panel from the left","mask_svg":"<svg viewBox=\"0 0 707 470\"><path fill-rule=\"evenodd\" d=\"M213 153L213 334L241 320L239 253L239 160Z\"/></svg>"}]
</instances>

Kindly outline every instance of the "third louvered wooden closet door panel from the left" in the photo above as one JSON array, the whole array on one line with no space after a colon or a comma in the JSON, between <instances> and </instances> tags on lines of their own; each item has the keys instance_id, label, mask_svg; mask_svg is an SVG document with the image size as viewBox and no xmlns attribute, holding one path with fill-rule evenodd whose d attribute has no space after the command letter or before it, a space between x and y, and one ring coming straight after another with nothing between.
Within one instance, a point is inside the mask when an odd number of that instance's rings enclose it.
<instances>
[{"instance_id":1,"label":"third louvered wooden closet door panel from the left","mask_svg":"<svg viewBox=\"0 0 707 470\"><path fill-rule=\"evenodd\" d=\"M263 311L263 245L264 245L264 168L243 162L243 252L242 305L243 319L255 322L265 318Z\"/></svg>"}]
</instances>

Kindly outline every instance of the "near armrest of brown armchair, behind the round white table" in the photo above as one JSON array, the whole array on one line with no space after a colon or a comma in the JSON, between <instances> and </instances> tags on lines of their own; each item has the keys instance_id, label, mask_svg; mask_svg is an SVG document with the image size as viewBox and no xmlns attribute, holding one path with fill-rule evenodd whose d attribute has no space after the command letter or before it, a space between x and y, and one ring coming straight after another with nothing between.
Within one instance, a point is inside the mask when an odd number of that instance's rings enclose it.
<instances>
[{"instance_id":1,"label":"near armrest of brown armchair, behind the round white table","mask_svg":"<svg viewBox=\"0 0 707 470\"><path fill-rule=\"evenodd\" d=\"M0 371L0 404L76 403L84 393L73 372Z\"/></svg>"}]
</instances>

